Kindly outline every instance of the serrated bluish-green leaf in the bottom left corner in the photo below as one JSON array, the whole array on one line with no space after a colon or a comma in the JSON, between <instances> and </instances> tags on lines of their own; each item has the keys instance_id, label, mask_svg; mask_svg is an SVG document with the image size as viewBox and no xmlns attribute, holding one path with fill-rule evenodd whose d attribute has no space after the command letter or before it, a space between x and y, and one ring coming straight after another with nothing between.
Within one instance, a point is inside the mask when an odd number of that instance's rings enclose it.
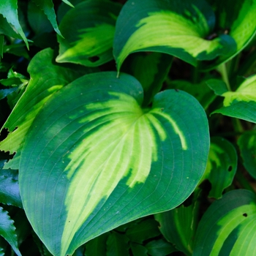
<instances>
[{"instance_id":1,"label":"serrated bluish-green leaf in the bottom left corner","mask_svg":"<svg viewBox=\"0 0 256 256\"><path fill-rule=\"evenodd\" d=\"M11 246L18 256L21 256L18 249L17 235L13 220L10 219L7 211L0 206L0 236L2 236Z\"/></svg>"}]
</instances>

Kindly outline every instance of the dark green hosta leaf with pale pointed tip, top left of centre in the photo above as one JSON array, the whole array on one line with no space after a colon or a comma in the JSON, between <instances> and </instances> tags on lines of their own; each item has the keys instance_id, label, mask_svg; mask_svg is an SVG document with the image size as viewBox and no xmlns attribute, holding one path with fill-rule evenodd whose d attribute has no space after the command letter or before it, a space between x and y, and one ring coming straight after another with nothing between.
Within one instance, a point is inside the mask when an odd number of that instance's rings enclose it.
<instances>
[{"instance_id":1,"label":"dark green hosta leaf with pale pointed tip, top left of centre","mask_svg":"<svg viewBox=\"0 0 256 256\"><path fill-rule=\"evenodd\" d=\"M58 62L96 67L113 59L115 23L121 5L108 0L77 4L61 20ZM70 29L72 28L72 29Z\"/></svg>"}]
</instances>

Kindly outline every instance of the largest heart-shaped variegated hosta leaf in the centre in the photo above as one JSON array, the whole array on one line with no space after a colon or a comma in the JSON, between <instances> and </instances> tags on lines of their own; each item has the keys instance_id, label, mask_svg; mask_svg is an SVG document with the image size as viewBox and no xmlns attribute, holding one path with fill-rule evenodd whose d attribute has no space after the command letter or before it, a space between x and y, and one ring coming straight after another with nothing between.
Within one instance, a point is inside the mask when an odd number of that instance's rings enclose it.
<instances>
[{"instance_id":1,"label":"largest heart-shaped variegated hosta leaf in the centre","mask_svg":"<svg viewBox=\"0 0 256 256\"><path fill-rule=\"evenodd\" d=\"M53 255L178 206L203 176L208 122L195 98L167 90L152 108L130 75L85 75L45 103L20 156L20 195Z\"/></svg>"}]
</instances>

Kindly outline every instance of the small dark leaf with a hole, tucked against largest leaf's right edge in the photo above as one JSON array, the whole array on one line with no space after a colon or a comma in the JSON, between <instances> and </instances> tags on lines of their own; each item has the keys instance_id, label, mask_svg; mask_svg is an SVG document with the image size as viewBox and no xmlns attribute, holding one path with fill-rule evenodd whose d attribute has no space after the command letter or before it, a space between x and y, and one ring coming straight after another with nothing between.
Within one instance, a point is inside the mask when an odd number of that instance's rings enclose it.
<instances>
[{"instance_id":1,"label":"small dark leaf with a hole, tucked against largest leaf's right edge","mask_svg":"<svg viewBox=\"0 0 256 256\"><path fill-rule=\"evenodd\" d=\"M224 138L211 138L206 172L201 181L211 182L208 197L220 198L225 188L230 186L236 174L238 157L236 148Z\"/></svg>"}]
</instances>

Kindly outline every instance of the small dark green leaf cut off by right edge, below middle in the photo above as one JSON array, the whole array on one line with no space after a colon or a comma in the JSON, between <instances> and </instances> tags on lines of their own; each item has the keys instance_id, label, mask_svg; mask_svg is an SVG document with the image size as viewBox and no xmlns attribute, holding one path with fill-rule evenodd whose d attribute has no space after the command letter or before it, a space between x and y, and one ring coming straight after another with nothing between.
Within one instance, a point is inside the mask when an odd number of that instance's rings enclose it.
<instances>
[{"instance_id":1,"label":"small dark green leaf cut off by right edge, below middle","mask_svg":"<svg viewBox=\"0 0 256 256\"><path fill-rule=\"evenodd\" d=\"M256 135L242 134L238 139L238 146L244 160L244 167L253 178L256 178Z\"/></svg>"}]
</instances>

